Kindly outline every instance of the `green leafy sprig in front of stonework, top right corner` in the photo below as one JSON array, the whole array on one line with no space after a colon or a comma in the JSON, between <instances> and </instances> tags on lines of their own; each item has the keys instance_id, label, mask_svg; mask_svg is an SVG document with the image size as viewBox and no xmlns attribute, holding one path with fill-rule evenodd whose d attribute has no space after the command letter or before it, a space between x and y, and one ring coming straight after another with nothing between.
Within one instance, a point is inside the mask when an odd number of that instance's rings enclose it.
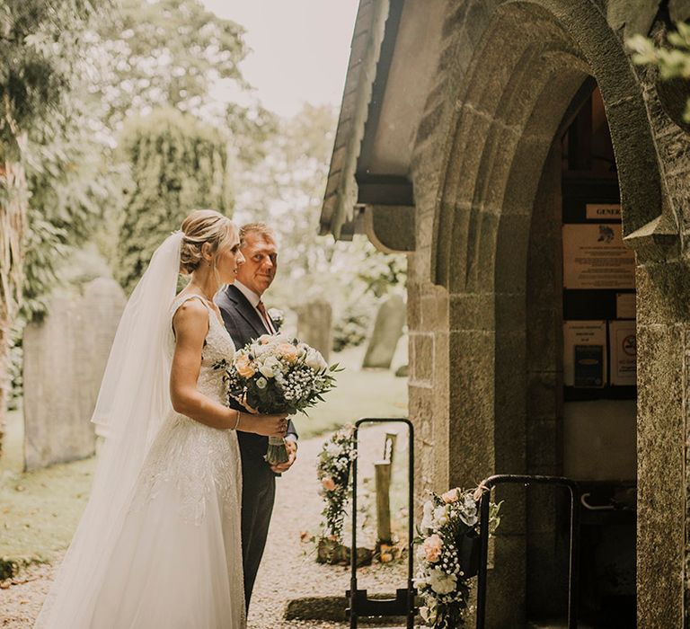
<instances>
[{"instance_id":1,"label":"green leafy sprig in front of stonework, top right corner","mask_svg":"<svg viewBox=\"0 0 690 629\"><path fill-rule=\"evenodd\" d=\"M690 81L690 24L678 22L676 26L677 31L668 33L668 47L658 46L642 35L635 35L627 44L634 53L634 63L657 66L661 78L666 81L676 78ZM683 118L690 122L690 100Z\"/></svg>"}]
</instances>

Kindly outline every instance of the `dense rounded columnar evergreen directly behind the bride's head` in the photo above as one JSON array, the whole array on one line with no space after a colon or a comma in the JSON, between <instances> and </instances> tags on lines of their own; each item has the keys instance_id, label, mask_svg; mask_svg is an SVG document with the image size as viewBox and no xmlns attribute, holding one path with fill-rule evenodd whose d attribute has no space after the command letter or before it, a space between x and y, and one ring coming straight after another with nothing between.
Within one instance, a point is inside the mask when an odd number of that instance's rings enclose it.
<instances>
[{"instance_id":1,"label":"dense rounded columnar evergreen directly behind the bride's head","mask_svg":"<svg viewBox=\"0 0 690 629\"><path fill-rule=\"evenodd\" d=\"M194 208L232 213L226 140L188 114L158 110L131 120L119 152L129 167L129 190L119 228L116 278L134 288L166 235Z\"/></svg>"}]
</instances>

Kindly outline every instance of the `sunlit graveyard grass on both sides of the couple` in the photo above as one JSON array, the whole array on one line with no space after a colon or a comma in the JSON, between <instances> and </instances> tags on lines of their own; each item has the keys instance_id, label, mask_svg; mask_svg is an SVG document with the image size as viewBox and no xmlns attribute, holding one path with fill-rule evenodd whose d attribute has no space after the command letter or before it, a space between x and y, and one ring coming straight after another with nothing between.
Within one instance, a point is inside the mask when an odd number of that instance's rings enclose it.
<instances>
[{"instance_id":1,"label":"sunlit graveyard grass on both sides of the couple","mask_svg":"<svg viewBox=\"0 0 690 629\"><path fill-rule=\"evenodd\" d=\"M318 437L364 416L407 415L407 379L395 377L393 370L359 370L362 356L362 348L332 355L345 370L326 402L309 417L296 418L300 439ZM22 473L22 439L22 414L11 412L6 450L0 457L0 579L3 568L13 562L49 562L66 549L95 466L92 457Z\"/></svg>"}]
</instances>

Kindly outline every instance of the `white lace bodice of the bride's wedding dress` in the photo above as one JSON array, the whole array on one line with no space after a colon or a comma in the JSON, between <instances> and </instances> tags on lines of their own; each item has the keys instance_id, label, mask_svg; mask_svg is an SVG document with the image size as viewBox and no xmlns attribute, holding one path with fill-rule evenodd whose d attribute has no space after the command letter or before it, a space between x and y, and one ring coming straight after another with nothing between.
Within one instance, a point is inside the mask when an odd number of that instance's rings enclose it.
<instances>
[{"instance_id":1,"label":"white lace bodice of the bride's wedding dress","mask_svg":"<svg viewBox=\"0 0 690 629\"><path fill-rule=\"evenodd\" d=\"M208 333L201 351L201 368L197 388L215 402L226 403L226 385L223 382L223 370L214 368L220 360L229 360L234 354L234 343L221 323L216 311L206 301L195 295L179 295L173 301L172 314L189 299L198 299L208 310ZM173 340L174 342L174 340ZM171 348L171 351L173 348Z\"/></svg>"}]
</instances>

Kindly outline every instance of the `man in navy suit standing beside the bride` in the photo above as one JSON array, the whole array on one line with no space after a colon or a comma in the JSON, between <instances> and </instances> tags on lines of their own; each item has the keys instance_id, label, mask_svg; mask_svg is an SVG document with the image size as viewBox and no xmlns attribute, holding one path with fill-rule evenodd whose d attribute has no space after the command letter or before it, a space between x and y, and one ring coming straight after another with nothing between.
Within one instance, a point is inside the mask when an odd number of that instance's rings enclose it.
<instances>
[{"instance_id":1,"label":"man in navy suit standing beside the bride","mask_svg":"<svg viewBox=\"0 0 690 629\"><path fill-rule=\"evenodd\" d=\"M216 297L227 332L236 349L261 334L277 332L277 325L266 311L261 297L276 277L278 246L270 227L251 223L240 228L240 242L244 264L239 268L234 284ZM242 407L238 406L240 410ZM297 434L292 421L288 422L285 438L289 460L282 465L269 465L264 456L269 439L252 432L238 432L242 455L242 555L244 569L244 599L249 609L256 572L269 533L270 514L276 495L276 475L287 472L295 463Z\"/></svg>"}]
</instances>

